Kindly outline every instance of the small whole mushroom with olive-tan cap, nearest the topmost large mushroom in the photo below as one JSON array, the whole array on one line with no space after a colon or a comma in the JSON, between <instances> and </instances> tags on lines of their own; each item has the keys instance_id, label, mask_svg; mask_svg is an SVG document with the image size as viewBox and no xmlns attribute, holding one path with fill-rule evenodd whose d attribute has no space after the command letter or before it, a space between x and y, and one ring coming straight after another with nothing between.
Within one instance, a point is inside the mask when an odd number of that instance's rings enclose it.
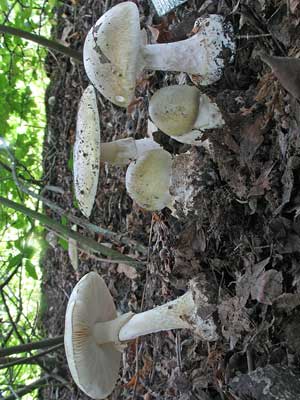
<instances>
[{"instance_id":1,"label":"small whole mushroom with olive-tan cap, nearest the topmost large mushroom","mask_svg":"<svg viewBox=\"0 0 300 400\"><path fill-rule=\"evenodd\" d=\"M188 85L168 86L155 92L149 115L162 132L196 146L203 145L204 130L220 128L225 123L218 106L195 86Z\"/></svg>"}]
</instances>

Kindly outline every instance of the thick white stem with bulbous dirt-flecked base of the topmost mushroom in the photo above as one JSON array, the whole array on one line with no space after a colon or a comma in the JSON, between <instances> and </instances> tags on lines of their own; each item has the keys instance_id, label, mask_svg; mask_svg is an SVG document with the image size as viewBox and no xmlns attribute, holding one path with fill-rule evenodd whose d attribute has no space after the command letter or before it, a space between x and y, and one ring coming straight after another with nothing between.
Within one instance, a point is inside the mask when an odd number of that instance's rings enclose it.
<instances>
[{"instance_id":1,"label":"thick white stem with bulbous dirt-flecked base of the topmost mushroom","mask_svg":"<svg viewBox=\"0 0 300 400\"><path fill-rule=\"evenodd\" d=\"M209 85L222 75L224 48L234 52L231 36L224 17L212 14L201 20L198 33L189 39L143 46L144 68L200 75L201 84Z\"/></svg>"}]
</instances>

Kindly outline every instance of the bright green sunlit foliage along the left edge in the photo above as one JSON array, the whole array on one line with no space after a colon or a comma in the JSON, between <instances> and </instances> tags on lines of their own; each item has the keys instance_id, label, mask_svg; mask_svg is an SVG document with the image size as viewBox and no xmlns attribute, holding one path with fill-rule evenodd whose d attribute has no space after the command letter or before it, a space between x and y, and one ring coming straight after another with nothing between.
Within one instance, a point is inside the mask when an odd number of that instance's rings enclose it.
<instances>
[{"instance_id":1,"label":"bright green sunlit foliage along the left edge","mask_svg":"<svg viewBox=\"0 0 300 400\"><path fill-rule=\"evenodd\" d=\"M32 33L49 36L55 0L0 0L0 23ZM43 70L46 51L16 36L0 34L0 194L3 197L38 208L15 185L11 160L16 171L31 187L41 185L42 141L45 126L44 91L48 83ZM1 149L2 147L2 149ZM32 219L14 210L0 207L0 344L14 346L39 337L36 317L39 313L39 277L37 234L40 227ZM7 278L11 279L6 282ZM2 286L3 285L3 286ZM37 286L37 287L36 287ZM38 374L33 365L19 365L0 373L0 396L11 394ZM30 397L32 398L32 396Z\"/></svg>"}]
</instances>

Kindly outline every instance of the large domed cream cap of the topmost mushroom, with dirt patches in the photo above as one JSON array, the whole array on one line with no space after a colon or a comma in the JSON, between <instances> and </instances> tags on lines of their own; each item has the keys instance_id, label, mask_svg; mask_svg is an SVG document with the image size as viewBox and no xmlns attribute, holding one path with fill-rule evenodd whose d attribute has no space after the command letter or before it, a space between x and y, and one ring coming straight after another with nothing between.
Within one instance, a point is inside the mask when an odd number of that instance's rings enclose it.
<instances>
[{"instance_id":1,"label":"large domed cream cap of the topmost mushroom, with dirt patches","mask_svg":"<svg viewBox=\"0 0 300 400\"><path fill-rule=\"evenodd\" d=\"M90 81L120 107L127 107L134 95L140 45L139 11L130 1L103 14L84 42L83 62Z\"/></svg>"}]
</instances>

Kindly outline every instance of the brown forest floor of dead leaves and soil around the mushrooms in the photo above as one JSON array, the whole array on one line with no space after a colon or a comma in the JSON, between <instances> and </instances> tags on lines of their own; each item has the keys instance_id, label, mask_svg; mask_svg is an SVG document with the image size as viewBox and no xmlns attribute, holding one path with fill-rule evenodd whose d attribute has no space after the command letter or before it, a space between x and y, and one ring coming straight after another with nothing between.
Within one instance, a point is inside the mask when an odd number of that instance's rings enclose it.
<instances>
[{"instance_id":1,"label":"brown forest floor of dead leaves and soil around the mushrooms","mask_svg":"<svg viewBox=\"0 0 300 400\"><path fill-rule=\"evenodd\" d=\"M188 215L180 206L179 218L168 209L144 211L126 194L125 168L101 167L91 222L140 241L148 256L108 243L100 235L94 239L147 261L145 268L136 272L80 252L74 271L68 252L52 241L43 260L42 289L48 305L43 329L47 336L63 333L72 288L85 273L97 271L121 312L163 304L184 294L191 281L200 281L219 340L207 343L191 330L181 330L129 343L110 399L300 398L293 373L300 362L300 109L258 56L264 50L299 57L298 3L189 0L158 18L150 0L136 1L141 25L153 42L187 38L195 20L207 13L223 14L232 22L234 62L219 82L205 88L228 121L225 128L210 132L213 160L200 147L154 133L172 154L190 150L187 174L201 190L195 190ZM58 10L56 37L82 50L90 27L114 4L65 2ZM51 84L46 97L45 179L63 189L63 194L52 193L50 198L80 216L74 208L71 161L78 102L88 79L82 65L59 55L50 54L46 68ZM103 140L146 137L149 99L157 89L176 83L193 85L197 80L184 73L145 72L137 86L138 101L128 110L99 95ZM214 171L214 179L199 179L208 169ZM58 218L49 209L47 214ZM58 360L65 384L53 381L43 398L87 399L72 381L63 351Z\"/></svg>"}]
</instances>

